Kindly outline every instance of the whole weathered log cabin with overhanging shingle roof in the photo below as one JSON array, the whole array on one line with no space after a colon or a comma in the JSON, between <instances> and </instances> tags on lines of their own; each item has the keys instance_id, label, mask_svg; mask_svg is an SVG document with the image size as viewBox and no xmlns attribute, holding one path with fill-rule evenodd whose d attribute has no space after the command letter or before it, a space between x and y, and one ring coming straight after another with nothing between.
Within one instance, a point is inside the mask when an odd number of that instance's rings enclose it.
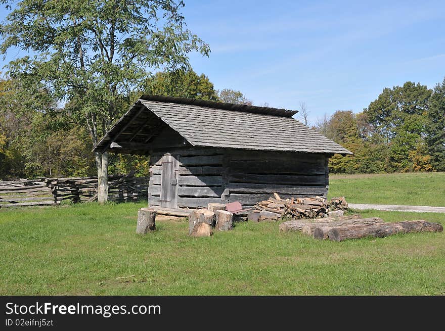
<instances>
[{"instance_id":1,"label":"whole weathered log cabin with overhanging shingle roof","mask_svg":"<svg viewBox=\"0 0 445 331\"><path fill-rule=\"evenodd\" d=\"M142 96L95 150L150 155L149 206L243 206L326 197L328 159L352 154L292 118L297 111Z\"/></svg>"}]
</instances>

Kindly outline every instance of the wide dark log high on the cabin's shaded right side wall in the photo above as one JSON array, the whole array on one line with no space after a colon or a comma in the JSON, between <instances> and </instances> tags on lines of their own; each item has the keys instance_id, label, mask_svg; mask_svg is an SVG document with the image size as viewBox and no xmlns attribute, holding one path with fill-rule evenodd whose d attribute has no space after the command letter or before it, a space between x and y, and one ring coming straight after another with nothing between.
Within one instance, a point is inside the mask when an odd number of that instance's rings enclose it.
<instances>
[{"instance_id":1,"label":"wide dark log high on the cabin's shaded right side wall","mask_svg":"<svg viewBox=\"0 0 445 331\"><path fill-rule=\"evenodd\" d=\"M230 171L237 173L266 173L293 175L321 175L325 174L324 160L322 162L301 162L298 160L262 160L262 161L231 161Z\"/></svg>"}]
</instances>

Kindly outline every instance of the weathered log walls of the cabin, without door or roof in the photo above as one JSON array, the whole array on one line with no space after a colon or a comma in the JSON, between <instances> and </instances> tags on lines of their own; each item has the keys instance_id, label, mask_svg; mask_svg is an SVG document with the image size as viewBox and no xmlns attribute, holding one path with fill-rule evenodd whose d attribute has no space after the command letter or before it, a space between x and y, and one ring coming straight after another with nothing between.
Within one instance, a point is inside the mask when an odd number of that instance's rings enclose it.
<instances>
[{"instance_id":1,"label":"weathered log walls of the cabin, without door or roof","mask_svg":"<svg viewBox=\"0 0 445 331\"><path fill-rule=\"evenodd\" d=\"M283 198L326 197L328 156L322 154L239 151L213 148L167 148L151 157L149 205L159 206L162 156L179 163L177 207L240 201L253 206L273 193Z\"/></svg>"}]
</instances>

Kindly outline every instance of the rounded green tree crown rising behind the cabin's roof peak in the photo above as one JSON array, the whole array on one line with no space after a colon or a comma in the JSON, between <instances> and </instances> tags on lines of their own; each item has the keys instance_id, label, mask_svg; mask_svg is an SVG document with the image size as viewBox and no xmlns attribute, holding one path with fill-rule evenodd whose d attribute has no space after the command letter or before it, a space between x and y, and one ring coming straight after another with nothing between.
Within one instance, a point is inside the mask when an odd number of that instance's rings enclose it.
<instances>
[{"instance_id":1,"label":"rounded green tree crown rising behind the cabin's roof peak","mask_svg":"<svg viewBox=\"0 0 445 331\"><path fill-rule=\"evenodd\" d=\"M147 79L144 92L158 96L218 101L213 83L206 75L198 76L193 70L157 72Z\"/></svg>"}]
</instances>

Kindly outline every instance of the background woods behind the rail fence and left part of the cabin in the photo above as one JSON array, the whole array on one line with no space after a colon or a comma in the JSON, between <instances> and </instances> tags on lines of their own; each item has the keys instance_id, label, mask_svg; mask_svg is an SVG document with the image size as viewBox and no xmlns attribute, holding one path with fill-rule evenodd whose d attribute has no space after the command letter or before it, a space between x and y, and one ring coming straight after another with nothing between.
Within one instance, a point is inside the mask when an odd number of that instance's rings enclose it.
<instances>
[{"instance_id":1,"label":"background woods behind the rail fence and left part of the cabin","mask_svg":"<svg viewBox=\"0 0 445 331\"><path fill-rule=\"evenodd\" d=\"M157 72L143 86L120 100L117 118L142 94L253 104L239 90L216 90L206 75L193 70ZM59 107L29 108L18 97L25 93L20 88L11 78L0 80L0 179L97 175L93 141L74 116L73 108L79 105L69 101ZM137 176L148 175L146 156L119 154L109 159L110 173L136 170Z\"/></svg>"}]
</instances>

